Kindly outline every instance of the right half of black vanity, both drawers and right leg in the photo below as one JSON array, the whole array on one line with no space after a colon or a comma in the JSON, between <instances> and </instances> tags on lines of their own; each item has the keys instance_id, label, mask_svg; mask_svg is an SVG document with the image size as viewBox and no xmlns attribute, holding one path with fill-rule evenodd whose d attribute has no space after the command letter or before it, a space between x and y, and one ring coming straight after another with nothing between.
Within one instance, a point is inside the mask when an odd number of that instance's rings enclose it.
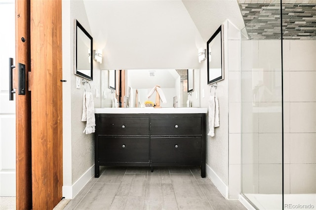
<instances>
[{"instance_id":1,"label":"right half of black vanity, both drawers and right leg","mask_svg":"<svg viewBox=\"0 0 316 210\"><path fill-rule=\"evenodd\" d=\"M205 177L205 114L152 114L151 166L201 166Z\"/></svg>"}]
</instances>

